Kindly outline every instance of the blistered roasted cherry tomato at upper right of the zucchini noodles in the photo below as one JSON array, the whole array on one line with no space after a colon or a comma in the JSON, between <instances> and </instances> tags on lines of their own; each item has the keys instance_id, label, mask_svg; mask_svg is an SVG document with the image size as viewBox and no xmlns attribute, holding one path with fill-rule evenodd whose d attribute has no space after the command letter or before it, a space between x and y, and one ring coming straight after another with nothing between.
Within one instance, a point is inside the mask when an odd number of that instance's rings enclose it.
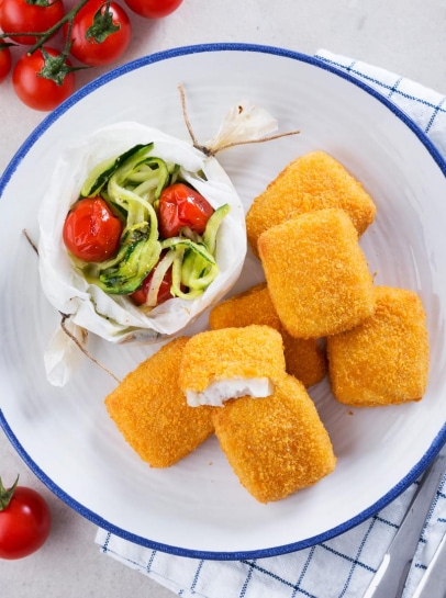
<instances>
[{"instance_id":1,"label":"blistered roasted cherry tomato at upper right of the zucchini noodles","mask_svg":"<svg viewBox=\"0 0 446 598\"><path fill-rule=\"evenodd\" d=\"M190 187L183 183L166 187L159 198L160 236L165 239L177 237L182 226L202 235L213 213L208 200Z\"/></svg>"}]
</instances>

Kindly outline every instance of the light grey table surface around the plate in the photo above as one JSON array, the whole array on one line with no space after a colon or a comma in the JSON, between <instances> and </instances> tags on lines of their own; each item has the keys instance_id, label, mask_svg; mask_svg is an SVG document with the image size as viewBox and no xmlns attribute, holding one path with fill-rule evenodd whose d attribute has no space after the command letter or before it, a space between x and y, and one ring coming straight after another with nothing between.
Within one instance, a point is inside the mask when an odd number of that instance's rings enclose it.
<instances>
[{"instance_id":1,"label":"light grey table surface around the plate","mask_svg":"<svg viewBox=\"0 0 446 598\"><path fill-rule=\"evenodd\" d=\"M266 44L309 55L324 47L446 93L446 0L183 0L166 19L147 21L132 13L131 20L131 46L114 66L176 46L212 42ZM107 70L81 71L78 87ZM1 84L0 172L44 116L16 100L10 80ZM46 497L53 530L45 546L34 555L0 561L2 596L174 596L101 554L93 542L94 524L56 498L27 470L0 430L0 475L5 483L12 483L16 473L22 485Z\"/></svg>"}]
</instances>

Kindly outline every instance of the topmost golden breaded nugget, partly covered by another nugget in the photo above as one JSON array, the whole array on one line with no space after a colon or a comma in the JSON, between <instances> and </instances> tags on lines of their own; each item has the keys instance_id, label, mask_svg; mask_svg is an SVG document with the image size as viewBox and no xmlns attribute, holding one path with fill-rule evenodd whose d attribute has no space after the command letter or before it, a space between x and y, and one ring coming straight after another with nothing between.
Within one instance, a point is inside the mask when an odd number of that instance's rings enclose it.
<instances>
[{"instance_id":1,"label":"topmost golden breaded nugget, partly covered by another nugget","mask_svg":"<svg viewBox=\"0 0 446 598\"><path fill-rule=\"evenodd\" d=\"M258 198L246 215L248 241L257 255L259 236L271 226L313 210L341 207L358 235L373 222L371 198L345 168L324 151L292 161Z\"/></svg>"}]
</instances>

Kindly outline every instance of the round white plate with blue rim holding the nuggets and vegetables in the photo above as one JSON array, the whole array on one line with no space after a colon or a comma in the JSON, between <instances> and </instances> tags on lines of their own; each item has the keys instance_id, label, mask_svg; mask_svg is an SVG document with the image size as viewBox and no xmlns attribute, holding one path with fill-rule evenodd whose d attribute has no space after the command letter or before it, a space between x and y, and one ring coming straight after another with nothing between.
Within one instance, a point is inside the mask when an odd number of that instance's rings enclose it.
<instances>
[{"instance_id":1,"label":"round white plate with blue rim holding the nuggets and vegetables","mask_svg":"<svg viewBox=\"0 0 446 598\"><path fill-rule=\"evenodd\" d=\"M377 218L361 239L376 282L412 289L428 316L431 375L417 404L350 409L327 382L311 390L333 440L335 472L312 488L260 505L238 484L213 438L168 470L152 470L124 442L103 399L114 382L86 362L63 390L45 380L43 352L58 316L40 289L36 212L67 144L102 125L136 120L186 137L185 86L199 139L210 138L243 98L298 137L221 155L242 200L298 155L332 154L364 183ZM51 114L0 181L0 420L31 469L80 514L141 544L189 556L266 556L311 545L355 526L394 498L446 438L446 165L390 103L346 75L277 48L212 45L165 52L90 83ZM248 258L234 291L261 279ZM201 317L190 334L207 326ZM96 340L92 352L123 376L153 348Z\"/></svg>"}]
</instances>

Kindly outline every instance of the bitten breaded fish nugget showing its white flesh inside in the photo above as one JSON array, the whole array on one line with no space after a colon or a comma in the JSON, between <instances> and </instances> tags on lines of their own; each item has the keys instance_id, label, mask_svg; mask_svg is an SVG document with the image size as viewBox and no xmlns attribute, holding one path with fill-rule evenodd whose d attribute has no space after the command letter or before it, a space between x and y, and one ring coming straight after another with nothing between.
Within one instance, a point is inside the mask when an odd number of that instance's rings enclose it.
<instances>
[{"instance_id":1,"label":"bitten breaded fish nugget showing its white flesh inside","mask_svg":"<svg viewBox=\"0 0 446 598\"><path fill-rule=\"evenodd\" d=\"M269 326L200 332L185 347L179 383L188 404L221 406L238 396L269 396L285 374L282 337Z\"/></svg>"}]
</instances>

